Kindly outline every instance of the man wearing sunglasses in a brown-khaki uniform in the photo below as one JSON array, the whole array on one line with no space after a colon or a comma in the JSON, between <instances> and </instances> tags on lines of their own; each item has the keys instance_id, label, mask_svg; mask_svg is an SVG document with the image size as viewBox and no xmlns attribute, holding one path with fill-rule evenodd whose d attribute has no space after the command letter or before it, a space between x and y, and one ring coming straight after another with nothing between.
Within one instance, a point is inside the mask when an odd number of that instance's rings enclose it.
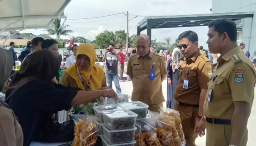
<instances>
[{"instance_id":1,"label":"man wearing sunglasses in a brown-khaki uniform","mask_svg":"<svg viewBox=\"0 0 256 146\"><path fill-rule=\"evenodd\" d=\"M213 66L198 50L196 32L183 32L178 40L178 48L184 56L184 61L180 66L180 80L174 93L174 110L180 112L186 146L196 146L194 128L203 115L207 83L212 76Z\"/></svg>"}]
</instances>

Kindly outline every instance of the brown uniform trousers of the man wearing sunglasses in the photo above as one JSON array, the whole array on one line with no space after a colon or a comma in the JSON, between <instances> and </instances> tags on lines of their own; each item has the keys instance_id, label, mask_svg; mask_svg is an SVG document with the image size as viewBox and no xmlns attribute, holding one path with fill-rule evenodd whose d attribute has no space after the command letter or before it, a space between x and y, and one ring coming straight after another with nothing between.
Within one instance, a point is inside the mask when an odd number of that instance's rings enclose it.
<instances>
[{"instance_id":1,"label":"brown uniform trousers of the man wearing sunglasses","mask_svg":"<svg viewBox=\"0 0 256 146\"><path fill-rule=\"evenodd\" d=\"M196 118L198 115L199 108L190 106L180 106L175 104L174 110L180 112L180 120L182 124L182 130L186 139L186 146L196 146L194 137L194 129L196 126Z\"/></svg>"}]
</instances>

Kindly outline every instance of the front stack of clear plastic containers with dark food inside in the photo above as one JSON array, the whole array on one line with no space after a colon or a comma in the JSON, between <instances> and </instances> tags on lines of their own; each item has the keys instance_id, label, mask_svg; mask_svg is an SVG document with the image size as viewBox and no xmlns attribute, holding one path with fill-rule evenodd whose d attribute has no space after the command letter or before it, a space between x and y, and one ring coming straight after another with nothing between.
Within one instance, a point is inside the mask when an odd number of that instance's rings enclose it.
<instances>
[{"instance_id":1,"label":"front stack of clear plastic containers with dark food inside","mask_svg":"<svg viewBox=\"0 0 256 146\"><path fill-rule=\"evenodd\" d=\"M126 109L103 113L103 146L134 146L135 122L138 114Z\"/></svg>"}]
</instances>

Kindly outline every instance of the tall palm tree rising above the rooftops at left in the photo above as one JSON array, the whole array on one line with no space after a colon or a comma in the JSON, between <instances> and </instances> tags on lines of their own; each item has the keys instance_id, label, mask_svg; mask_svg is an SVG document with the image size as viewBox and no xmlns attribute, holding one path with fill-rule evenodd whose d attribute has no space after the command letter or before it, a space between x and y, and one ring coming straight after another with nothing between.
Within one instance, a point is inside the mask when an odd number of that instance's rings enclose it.
<instances>
[{"instance_id":1,"label":"tall palm tree rising above the rooftops at left","mask_svg":"<svg viewBox=\"0 0 256 146\"><path fill-rule=\"evenodd\" d=\"M73 30L66 29L69 25L65 25L65 21L60 24L61 20L55 19L53 22L54 28L46 29L45 31L47 31L49 35L56 35L57 39L60 39L60 36L70 36L69 33L72 33Z\"/></svg>"}]
</instances>

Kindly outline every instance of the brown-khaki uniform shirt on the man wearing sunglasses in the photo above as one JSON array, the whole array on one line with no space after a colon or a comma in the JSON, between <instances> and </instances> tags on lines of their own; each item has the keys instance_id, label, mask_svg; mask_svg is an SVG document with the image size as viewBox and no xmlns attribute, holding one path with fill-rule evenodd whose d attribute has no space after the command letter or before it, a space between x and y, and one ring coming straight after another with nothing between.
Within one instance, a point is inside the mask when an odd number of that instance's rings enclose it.
<instances>
[{"instance_id":1,"label":"brown-khaki uniform shirt on the man wearing sunglasses","mask_svg":"<svg viewBox=\"0 0 256 146\"><path fill-rule=\"evenodd\" d=\"M211 62L199 51L190 59L184 58L180 66L180 80L174 93L174 99L185 104L199 105L201 89L208 88L207 83L212 73ZM185 79L189 81L188 89L183 89Z\"/></svg>"}]
</instances>

